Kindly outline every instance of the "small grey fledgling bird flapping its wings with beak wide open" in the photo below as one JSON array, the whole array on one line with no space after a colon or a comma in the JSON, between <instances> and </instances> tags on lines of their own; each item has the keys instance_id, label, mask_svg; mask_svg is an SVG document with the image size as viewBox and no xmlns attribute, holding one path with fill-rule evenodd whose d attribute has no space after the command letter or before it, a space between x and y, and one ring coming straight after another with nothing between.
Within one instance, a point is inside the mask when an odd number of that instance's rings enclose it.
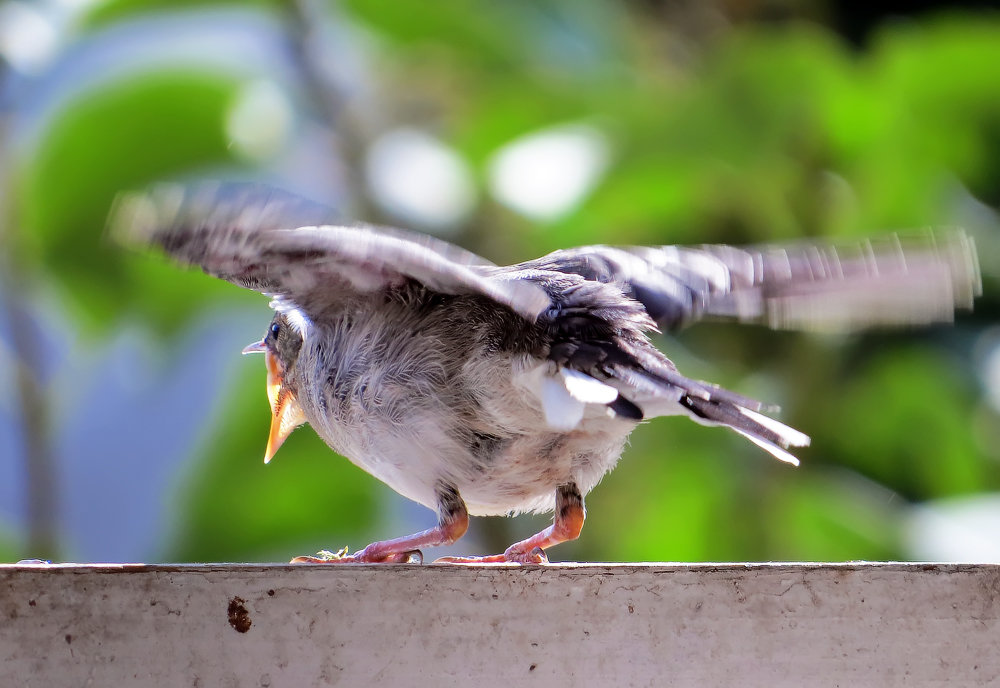
<instances>
[{"instance_id":1,"label":"small grey fledgling bird flapping its wings with beak wide open","mask_svg":"<svg viewBox=\"0 0 1000 688\"><path fill-rule=\"evenodd\" d=\"M683 375L650 335L728 319L854 331L948 322L981 292L960 229L854 242L557 250L495 265L417 232L338 224L256 185L161 184L121 194L117 240L267 295L268 462L310 425L336 453L432 509L421 532L299 563L422 562L470 516L552 512L501 554L544 564L579 537L585 496L630 433L659 416L728 428L776 459L809 437L775 409Z\"/></svg>"}]
</instances>

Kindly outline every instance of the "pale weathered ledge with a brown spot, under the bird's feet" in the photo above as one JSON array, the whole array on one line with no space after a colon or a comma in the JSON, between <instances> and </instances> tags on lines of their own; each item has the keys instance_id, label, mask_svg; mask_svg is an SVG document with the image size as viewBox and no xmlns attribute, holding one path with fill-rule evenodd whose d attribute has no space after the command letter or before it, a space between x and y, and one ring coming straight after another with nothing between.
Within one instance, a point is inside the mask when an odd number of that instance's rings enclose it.
<instances>
[{"instance_id":1,"label":"pale weathered ledge with a brown spot, under the bird's feet","mask_svg":"<svg viewBox=\"0 0 1000 688\"><path fill-rule=\"evenodd\" d=\"M1000 566L0 566L0 686L1000 681Z\"/></svg>"}]
</instances>

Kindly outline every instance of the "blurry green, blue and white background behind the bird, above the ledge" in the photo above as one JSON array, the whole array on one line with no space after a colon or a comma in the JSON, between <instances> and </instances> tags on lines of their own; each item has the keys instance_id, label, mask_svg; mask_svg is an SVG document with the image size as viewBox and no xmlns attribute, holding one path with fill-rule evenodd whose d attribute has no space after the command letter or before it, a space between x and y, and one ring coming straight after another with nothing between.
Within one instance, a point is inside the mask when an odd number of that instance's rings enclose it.
<instances>
[{"instance_id":1,"label":"blurry green, blue and white background behind the bird, above the ledge","mask_svg":"<svg viewBox=\"0 0 1000 688\"><path fill-rule=\"evenodd\" d=\"M1000 561L1000 13L854 5L0 0L0 560L285 561L432 523L309 429L265 468L239 350L266 299L105 240L119 190L212 178L496 262L961 225L985 295L955 327L658 341L813 446L792 469L650 423L551 555Z\"/></svg>"}]
</instances>

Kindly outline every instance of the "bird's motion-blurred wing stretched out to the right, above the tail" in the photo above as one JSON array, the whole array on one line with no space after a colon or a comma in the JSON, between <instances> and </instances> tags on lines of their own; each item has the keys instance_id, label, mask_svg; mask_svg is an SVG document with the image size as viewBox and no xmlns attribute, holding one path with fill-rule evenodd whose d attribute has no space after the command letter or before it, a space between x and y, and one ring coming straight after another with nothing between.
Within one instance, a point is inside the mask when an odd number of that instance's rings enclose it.
<instances>
[{"instance_id":1,"label":"bird's motion-blurred wing stretched out to the right, above the tail","mask_svg":"<svg viewBox=\"0 0 1000 688\"><path fill-rule=\"evenodd\" d=\"M664 330L704 318L833 331L950 322L981 291L960 230L750 248L588 246L523 267L615 283Z\"/></svg>"}]
</instances>

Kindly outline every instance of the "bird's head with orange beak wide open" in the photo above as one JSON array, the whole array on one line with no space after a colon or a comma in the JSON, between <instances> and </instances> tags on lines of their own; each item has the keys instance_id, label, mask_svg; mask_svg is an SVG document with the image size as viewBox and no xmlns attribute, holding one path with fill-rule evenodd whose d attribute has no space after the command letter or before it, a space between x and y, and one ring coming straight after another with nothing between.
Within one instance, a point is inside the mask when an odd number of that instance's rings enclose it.
<instances>
[{"instance_id":1,"label":"bird's head with orange beak wide open","mask_svg":"<svg viewBox=\"0 0 1000 688\"><path fill-rule=\"evenodd\" d=\"M275 313L267 333L243 353L263 353L267 364L267 400L271 404L271 432L267 437L264 463L281 447L292 430L306 422L296 399L295 363L302 349L302 334L283 313Z\"/></svg>"}]
</instances>

